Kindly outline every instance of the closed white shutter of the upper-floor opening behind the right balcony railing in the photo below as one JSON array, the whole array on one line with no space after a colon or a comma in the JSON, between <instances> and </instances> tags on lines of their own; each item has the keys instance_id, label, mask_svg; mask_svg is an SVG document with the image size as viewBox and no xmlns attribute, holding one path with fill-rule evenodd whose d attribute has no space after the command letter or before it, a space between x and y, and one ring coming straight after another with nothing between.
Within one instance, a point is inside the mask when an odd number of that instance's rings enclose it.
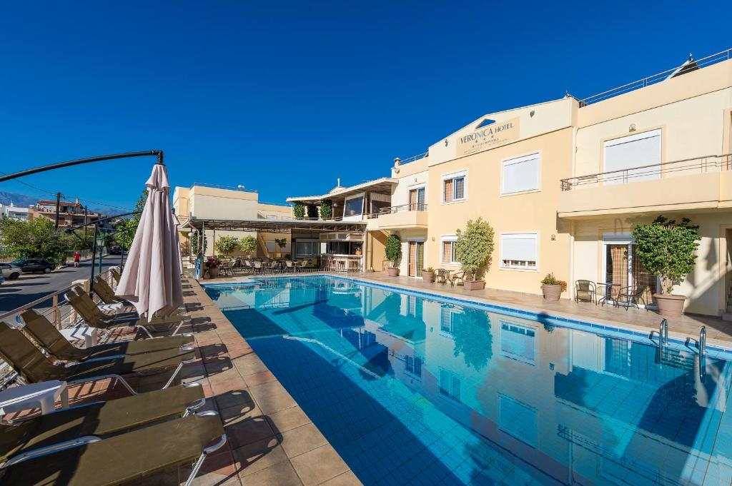
<instances>
[{"instance_id":1,"label":"closed white shutter of the upper-floor opening behind the right balcony railing","mask_svg":"<svg viewBox=\"0 0 732 486\"><path fill-rule=\"evenodd\" d=\"M661 177L653 167L635 169L661 163L661 130L651 130L616 138L605 142L602 172L619 170L605 176L605 184L620 184L633 181L649 181Z\"/></svg>"}]
</instances>

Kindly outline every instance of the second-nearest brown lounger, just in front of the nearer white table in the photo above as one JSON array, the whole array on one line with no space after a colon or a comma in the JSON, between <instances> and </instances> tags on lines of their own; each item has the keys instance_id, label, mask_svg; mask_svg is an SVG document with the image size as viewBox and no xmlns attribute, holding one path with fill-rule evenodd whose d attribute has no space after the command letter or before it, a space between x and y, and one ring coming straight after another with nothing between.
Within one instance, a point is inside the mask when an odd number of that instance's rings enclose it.
<instances>
[{"instance_id":1,"label":"second-nearest brown lounger, just in front of the nearer white table","mask_svg":"<svg viewBox=\"0 0 732 486\"><path fill-rule=\"evenodd\" d=\"M163 419L187 417L204 403L203 387L193 382L6 422L0 424L0 463L85 436L109 436Z\"/></svg>"}]
</instances>

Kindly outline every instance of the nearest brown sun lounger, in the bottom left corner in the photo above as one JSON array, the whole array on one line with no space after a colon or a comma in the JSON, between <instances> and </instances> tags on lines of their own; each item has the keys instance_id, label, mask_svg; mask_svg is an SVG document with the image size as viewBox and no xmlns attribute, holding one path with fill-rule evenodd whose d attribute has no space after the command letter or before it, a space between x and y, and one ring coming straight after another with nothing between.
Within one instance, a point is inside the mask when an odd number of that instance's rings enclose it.
<instances>
[{"instance_id":1,"label":"nearest brown sun lounger, in the bottom left corner","mask_svg":"<svg viewBox=\"0 0 732 486\"><path fill-rule=\"evenodd\" d=\"M215 442L214 442L215 441ZM89 436L81 445L59 446L9 461L0 478L7 485L111 486L139 482L165 468L193 463L186 486L203 461L226 442L221 419L204 411L110 438ZM213 444L212 444L213 443Z\"/></svg>"}]
</instances>

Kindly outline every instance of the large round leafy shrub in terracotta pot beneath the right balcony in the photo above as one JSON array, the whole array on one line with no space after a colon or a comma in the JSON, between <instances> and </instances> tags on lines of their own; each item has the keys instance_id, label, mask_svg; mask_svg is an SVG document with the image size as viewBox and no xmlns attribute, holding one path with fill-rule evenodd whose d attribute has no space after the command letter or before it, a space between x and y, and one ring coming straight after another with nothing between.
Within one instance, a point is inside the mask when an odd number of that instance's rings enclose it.
<instances>
[{"instance_id":1,"label":"large round leafy shrub in terracotta pot beneath the right balcony","mask_svg":"<svg viewBox=\"0 0 732 486\"><path fill-rule=\"evenodd\" d=\"M658 216L651 224L638 224L633 229L635 258L651 275L659 276L660 292L653 295L662 316L681 316L685 295L674 295L673 285L694 270L699 247L699 227L688 218L676 224L673 219Z\"/></svg>"}]
</instances>

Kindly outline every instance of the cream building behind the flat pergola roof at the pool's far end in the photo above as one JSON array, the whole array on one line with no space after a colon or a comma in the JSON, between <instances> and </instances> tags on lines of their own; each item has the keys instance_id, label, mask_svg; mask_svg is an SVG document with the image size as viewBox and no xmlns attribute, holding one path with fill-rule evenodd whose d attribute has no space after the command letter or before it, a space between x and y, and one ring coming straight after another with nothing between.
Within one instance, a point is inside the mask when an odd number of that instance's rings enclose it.
<instances>
[{"instance_id":1,"label":"cream building behind the flat pergola roof at the pool's far end","mask_svg":"<svg viewBox=\"0 0 732 486\"><path fill-rule=\"evenodd\" d=\"M183 227L191 218L252 220L292 217L291 206L259 202L259 194L256 191L198 183L190 188L176 187L173 191L173 208L181 222L181 244L185 247L184 250L189 252L190 229ZM206 230L208 240L206 255L218 254L214 251L214 245L216 239L221 236L239 239L254 236L257 238L257 255L260 257L284 256L291 252L289 233ZM277 245L275 242L277 239L285 239L283 248ZM239 253L236 252L235 255Z\"/></svg>"}]
</instances>

